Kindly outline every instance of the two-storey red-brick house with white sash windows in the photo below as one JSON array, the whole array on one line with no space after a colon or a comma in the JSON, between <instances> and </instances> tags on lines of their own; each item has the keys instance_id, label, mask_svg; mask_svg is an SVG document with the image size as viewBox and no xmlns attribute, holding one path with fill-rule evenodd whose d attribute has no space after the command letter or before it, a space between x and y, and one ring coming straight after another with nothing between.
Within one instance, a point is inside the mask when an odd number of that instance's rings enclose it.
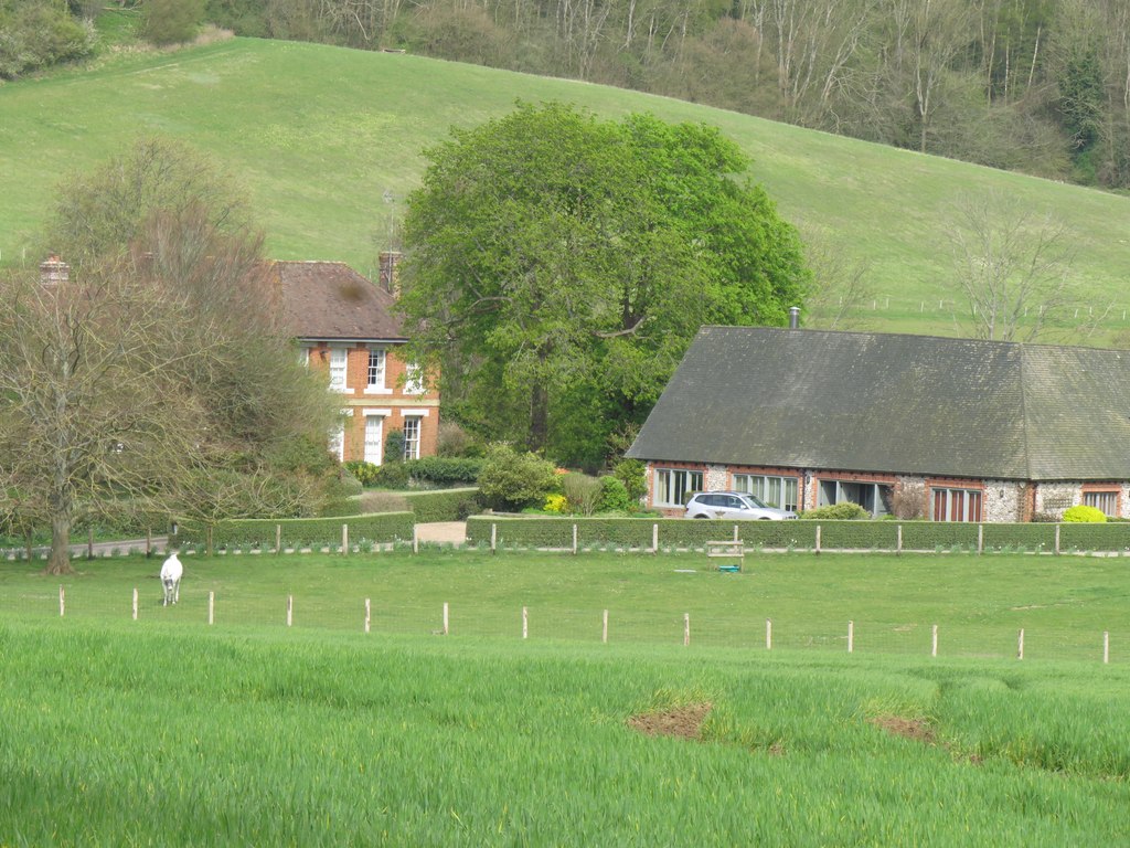
<instances>
[{"instance_id":1,"label":"two-storey red-brick house with white sash windows","mask_svg":"<svg viewBox=\"0 0 1130 848\"><path fill-rule=\"evenodd\" d=\"M405 354L408 338L392 311L395 254L381 256L375 285L344 262L287 262L270 266L288 331L306 363L327 373L341 393L345 421L330 450L340 460L384 461L384 440L405 434L405 456L435 453L440 395L420 384Z\"/></svg>"}]
</instances>

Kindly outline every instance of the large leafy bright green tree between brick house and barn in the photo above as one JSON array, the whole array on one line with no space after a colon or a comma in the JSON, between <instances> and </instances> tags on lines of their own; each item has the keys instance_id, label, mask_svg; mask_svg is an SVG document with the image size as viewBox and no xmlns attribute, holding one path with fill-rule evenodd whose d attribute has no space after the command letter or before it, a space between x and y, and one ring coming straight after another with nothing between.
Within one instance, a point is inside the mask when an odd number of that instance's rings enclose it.
<instances>
[{"instance_id":1,"label":"large leafy bright green tree between brick house and barn","mask_svg":"<svg viewBox=\"0 0 1130 848\"><path fill-rule=\"evenodd\" d=\"M427 152L401 309L466 424L593 464L704 323L781 325L801 245L715 129L520 104Z\"/></svg>"}]
</instances>

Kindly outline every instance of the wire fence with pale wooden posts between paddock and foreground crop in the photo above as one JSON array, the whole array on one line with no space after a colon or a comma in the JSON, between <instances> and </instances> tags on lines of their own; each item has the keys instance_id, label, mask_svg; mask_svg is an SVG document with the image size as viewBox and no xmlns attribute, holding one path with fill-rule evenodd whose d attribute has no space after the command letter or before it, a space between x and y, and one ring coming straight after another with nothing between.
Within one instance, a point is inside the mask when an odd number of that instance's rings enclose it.
<instances>
[{"instance_id":1,"label":"wire fence with pale wooden posts between paddock and foreground crop","mask_svg":"<svg viewBox=\"0 0 1130 848\"><path fill-rule=\"evenodd\" d=\"M884 621L849 615L763 609L687 609L678 613L644 606L503 607L477 602L432 603L402 598L347 597L332 589L308 595L282 589L241 587L217 591L183 586L180 600L165 607L157 579L120 596L78 585L44 586L7 597L5 613L20 617L133 620L147 623L295 630L354 631L372 635L455 637L515 642L666 644L739 651L824 650L847 655L902 655L1016 660L1071 660L1122 664L1130 657L1130 634L1080 625L1016 628L1003 622ZM1118 622L1112 622L1116 624Z\"/></svg>"}]
</instances>

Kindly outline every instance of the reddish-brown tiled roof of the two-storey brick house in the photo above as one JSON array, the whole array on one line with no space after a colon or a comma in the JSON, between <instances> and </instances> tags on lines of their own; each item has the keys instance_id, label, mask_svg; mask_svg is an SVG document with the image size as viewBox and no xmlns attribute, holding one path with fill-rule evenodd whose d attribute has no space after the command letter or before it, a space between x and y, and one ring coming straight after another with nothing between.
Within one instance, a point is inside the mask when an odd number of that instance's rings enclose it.
<instances>
[{"instance_id":1,"label":"reddish-brown tiled roof of the two-storey brick house","mask_svg":"<svg viewBox=\"0 0 1130 848\"><path fill-rule=\"evenodd\" d=\"M270 283L296 338L408 340L392 295L345 262L271 262Z\"/></svg>"}]
</instances>

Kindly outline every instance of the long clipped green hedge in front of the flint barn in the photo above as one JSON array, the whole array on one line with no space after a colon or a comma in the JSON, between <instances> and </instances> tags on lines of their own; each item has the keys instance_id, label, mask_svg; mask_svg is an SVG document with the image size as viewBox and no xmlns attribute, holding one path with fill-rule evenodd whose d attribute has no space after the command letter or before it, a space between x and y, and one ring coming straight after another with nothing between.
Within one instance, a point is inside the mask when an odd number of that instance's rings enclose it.
<instances>
[{"instance_id":1,"label":"long clipped green hedge in front of the flint barn","mask_svg":"<svg viewBox=\"0 0 1130 848\"><path fill-rule=\"evenodd\" d=\"M472 545L490 543L490 525L497 526L499 547L573 546L573 525L577 546L614 545L651 548L652 526L659 525L659 547L702 548L707 540L738 536L747 547L815 550L816 528L820 528L820 548L827 551L895 551L902 527L904 551L977 550L975 523L936 521L724 521L681 518L501 518L476 516L467 521L467 537ZM1053 551L1053 523L986 523L982 545L992 551ZM1128 523L1062 523L1061 551L1130 551Z\"/></svg>"}]
</instances>

